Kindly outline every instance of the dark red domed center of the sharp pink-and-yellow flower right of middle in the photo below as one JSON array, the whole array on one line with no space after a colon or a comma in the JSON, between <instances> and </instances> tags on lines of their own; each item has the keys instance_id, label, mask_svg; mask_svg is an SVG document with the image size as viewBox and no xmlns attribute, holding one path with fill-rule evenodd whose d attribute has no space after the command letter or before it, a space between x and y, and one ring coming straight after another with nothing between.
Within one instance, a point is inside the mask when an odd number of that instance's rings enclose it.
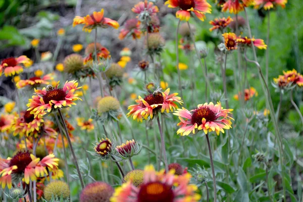
<instances>
[{"instance_id":1,"label":"dark red domed center of the sharp pink-and-yellow flower right of middle","mask_svg":"<svg viewBox=\"0 0 303 202\"><path fill-rule=\"evenodd\" d=\"M215 112L213 112L209 107L203 106L193 111L191 116L191 123L196 123L199 126L202 124L203 118L205 118L207 122L215 121L217 119Z\"/></svg>"}]
</instances>

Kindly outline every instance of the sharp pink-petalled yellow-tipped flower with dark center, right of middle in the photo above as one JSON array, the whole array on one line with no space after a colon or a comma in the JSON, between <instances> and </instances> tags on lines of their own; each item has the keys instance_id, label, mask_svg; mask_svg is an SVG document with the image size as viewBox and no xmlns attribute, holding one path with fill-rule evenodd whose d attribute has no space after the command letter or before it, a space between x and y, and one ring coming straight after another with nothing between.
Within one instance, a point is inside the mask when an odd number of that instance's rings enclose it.
<instances>
[{"instance_id":1,"label":"sharp pink-petalled yellow-tipped flower with dark center, right of middle","mask_svg":"<svg viewBox=\"0 0 303 202\"><path fill-rule=\"evenodd\" d=\"M205 103L198 105L196 109L188 111L185 108L177 109L174 115L178 116L181 126L177 134L189 135L191 132L195 134L195 129L203 130L205 134L211 131L216 131L217 135L223 129L231 128L231 117L229 114L232 109L223 109L221 103L214 105L213 103ZM184 120L185 119L185 120Z\"/></svg>"}]
</instances>

